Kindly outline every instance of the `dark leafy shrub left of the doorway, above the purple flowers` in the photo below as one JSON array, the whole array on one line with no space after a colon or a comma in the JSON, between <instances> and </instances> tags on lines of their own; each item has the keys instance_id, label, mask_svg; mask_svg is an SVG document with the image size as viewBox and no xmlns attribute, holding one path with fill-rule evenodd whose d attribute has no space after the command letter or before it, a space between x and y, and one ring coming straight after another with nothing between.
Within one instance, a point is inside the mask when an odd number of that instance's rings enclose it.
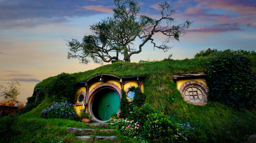
<instances>
[{"instance_id":1,"label":"dark leafy shrub left of the doorway, above the purple flowers","mask_svg":"<svg viewBox=\"0 0 256 143\"><path fill-rule=\"evenodd\" d=\"M53 83L51 83L50 87L48 87L47 93L50 97L55 96L57 101L66 99L68 102L73 103L77 89L75 77L62 72L56 77Z\"/></svg>"}]
</instances>

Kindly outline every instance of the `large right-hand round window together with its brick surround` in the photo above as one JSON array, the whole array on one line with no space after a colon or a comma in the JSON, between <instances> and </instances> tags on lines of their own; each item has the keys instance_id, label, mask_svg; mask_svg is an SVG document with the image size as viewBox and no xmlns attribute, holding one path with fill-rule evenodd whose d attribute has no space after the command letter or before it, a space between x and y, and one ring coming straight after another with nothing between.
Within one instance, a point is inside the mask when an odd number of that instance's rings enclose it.
<instances>
[{"instance_id":1,"label":"large right-hand round window together with its brick surround","mask_svg":"<svg viewBox=\"0 0 256 143\"><path fill-rule=\"evenodd\" d=\"M201 82L198 81L187 81L180 87L181 96L187 103L193 103L196 105L205 105L207 103L207 96L209 89ZM189 93L190 92L190 93ZM191 95L192 100L188 100L188 96ZM187 98L186 98L187 96ZM193 100L193 98L195 100Z\"/></svg>"}]
</instances>

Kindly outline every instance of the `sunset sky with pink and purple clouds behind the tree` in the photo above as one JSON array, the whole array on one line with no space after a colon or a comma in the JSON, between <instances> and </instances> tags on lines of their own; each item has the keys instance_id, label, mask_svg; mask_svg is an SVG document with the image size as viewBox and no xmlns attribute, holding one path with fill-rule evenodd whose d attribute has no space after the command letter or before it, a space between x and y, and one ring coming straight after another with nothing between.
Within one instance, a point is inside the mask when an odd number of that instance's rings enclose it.
<instances>
[{"instance_id":1,"label":"sunset sky with pink and purple clouds behind the tree","mask_svg":"<svg viewBox=\"0 0 256 143\"><path fill-rule=\"evenodd\" d=\"M159 0L140 0L140 13L160 17ZM255 0L169 0L177 9L173 18L180 24L193 24L180 41L170 41L167 52L154 50L151 43L131 56L131 62L193 58L201 50L256 51ZM93 34L90 25L113 15L112 0L0 0L0 85L15 78L21 84L18 97L26 103L34 86L61 72L74 73L95 69L93 62L84 65L78 59L67 59L66 40L82 40ZM175 24L176 24L175 23ZM157 35L155 41L165 38ZM136 40L135 47L141 41ZM138 49L138 48L137 48ZM110 64L110 63L105 63ZM2 100L3 97L0 97Z\"/></svg>"}]
</instances>

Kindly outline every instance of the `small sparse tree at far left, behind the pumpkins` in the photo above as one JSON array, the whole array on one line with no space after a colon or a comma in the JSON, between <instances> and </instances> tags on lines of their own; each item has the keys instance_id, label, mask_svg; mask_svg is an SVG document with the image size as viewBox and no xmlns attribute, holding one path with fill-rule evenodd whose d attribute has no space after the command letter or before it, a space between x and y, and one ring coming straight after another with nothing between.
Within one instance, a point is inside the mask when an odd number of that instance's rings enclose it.
<instances>
[{"instance_id":1,"label":"small sparse tree at far left, behind the pumpkins","mask_svg":"<svg viewBox=\"0 0 256 143\"><path fill-rule=\"evenodd\" d=\"M8 82L7 85L9 88L0 85L0 91L1 88L3 88L3 90L0 92L0 96L3 96L5 99L18 99L18 96L20 95L20 82L15 78L15 81L11 81L11 83Z\"/></svg>"}]
</instances>

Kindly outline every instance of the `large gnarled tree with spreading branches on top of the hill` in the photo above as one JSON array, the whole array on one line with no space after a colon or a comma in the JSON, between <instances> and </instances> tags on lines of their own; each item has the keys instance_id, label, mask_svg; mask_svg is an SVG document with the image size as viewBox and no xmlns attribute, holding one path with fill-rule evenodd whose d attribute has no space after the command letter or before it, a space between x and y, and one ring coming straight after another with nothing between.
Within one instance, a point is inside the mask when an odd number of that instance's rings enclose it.
<instances>
[{"instance_id":1,"label":"large gnarled tree with spreading branches on top of the hill","mask_svg":"<svg viewBox=\"0 0 256 143\"><path fill-rule=\"evenodd\" d=\"M107 17L98 23L90 25L94 35L85 35L79 42L77 39L67 40L70 52L68 59L78 58L80 63L87 64L92 59L95 63L120 60L130 62L133 54L139 54L144 44L151 41L154 49L159 48L164 52L171 49L167 43L169 40L178 40L186 34L185 29L192 24L190 21L173 25L176 22L171 15L176 12L166 2L158 4L161 18L153 19L146 15L139 15L140 7L136 0L114 0L113 17ZM162 45L154 42L153 35L161 33L167 38ZM142 43L139 49L134 48L135 39L139 38ZM78 54L77 54L78 53ZM80 53L80 54L79 54ZM113 56L114 55L114 56Z\"/></svg>"}]
</instances>

